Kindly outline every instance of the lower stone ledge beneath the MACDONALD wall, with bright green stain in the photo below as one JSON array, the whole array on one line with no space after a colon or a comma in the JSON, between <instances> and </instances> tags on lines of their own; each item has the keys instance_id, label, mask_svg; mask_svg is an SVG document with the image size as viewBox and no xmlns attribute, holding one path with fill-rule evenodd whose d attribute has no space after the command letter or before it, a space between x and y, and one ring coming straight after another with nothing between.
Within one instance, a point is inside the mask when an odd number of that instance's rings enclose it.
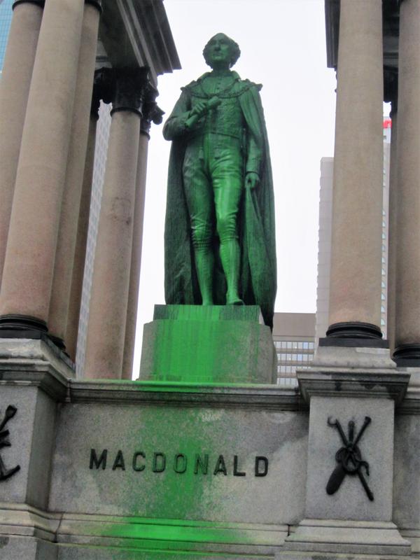
<instances>
[{"instance_id":1,"label":"lower stone ledge beneath the MACDONALD wall, with bright green stain","mask_svg":"<svg viewBox=\"0 0 420 560\"><path fill-rule=\"evenodd\" d=\"M218 557L224 552L239 553L241 558L244 558L242 554L272 557L288 534L287 525L54 514L25 504L0 503L0 516L0 535L33 536L57 542L63 548L65 545L104 547L104 554L105 547L112 547L114 554L118 549L138 552L162 549L174 553L209 552Z\"/></svg>"}]
</instances>

